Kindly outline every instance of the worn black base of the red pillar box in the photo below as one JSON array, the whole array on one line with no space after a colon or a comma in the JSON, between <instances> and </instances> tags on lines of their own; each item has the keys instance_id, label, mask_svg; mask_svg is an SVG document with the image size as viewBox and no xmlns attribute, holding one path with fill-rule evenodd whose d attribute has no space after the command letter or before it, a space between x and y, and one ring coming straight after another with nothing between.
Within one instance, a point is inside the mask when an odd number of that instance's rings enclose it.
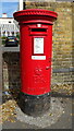
<instances>
[{"instance_id":1,"label":"worn black base of the red pillar box","mask_svg":"<svg viewBox=\"0 0 74 131\"><path fill-rule=\"evenodd\" d=\"M50 93L44 95L20 94L20 107L29 116L40 116L50 108Z\"/></svg>"}]
</instances>

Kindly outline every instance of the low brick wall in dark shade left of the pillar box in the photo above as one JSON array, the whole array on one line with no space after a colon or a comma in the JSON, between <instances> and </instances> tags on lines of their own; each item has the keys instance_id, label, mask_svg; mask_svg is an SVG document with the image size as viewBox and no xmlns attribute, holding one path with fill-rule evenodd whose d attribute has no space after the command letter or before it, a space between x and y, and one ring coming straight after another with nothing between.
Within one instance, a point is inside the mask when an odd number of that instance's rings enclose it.
<instances>
[{"instance_id":1,"label":"low brick wall in dark shade left of the pillar box","mask_svg":"<svg viewBox=\"0 0 74 131\"><path fill-rule=\"evenodd\" d=\"M7 84L8 83L8 84ZM9 87L13 98L17 98L21 88L20 79L20 53L3 53L3 90Z\"/></svg>"}]
</instances>

